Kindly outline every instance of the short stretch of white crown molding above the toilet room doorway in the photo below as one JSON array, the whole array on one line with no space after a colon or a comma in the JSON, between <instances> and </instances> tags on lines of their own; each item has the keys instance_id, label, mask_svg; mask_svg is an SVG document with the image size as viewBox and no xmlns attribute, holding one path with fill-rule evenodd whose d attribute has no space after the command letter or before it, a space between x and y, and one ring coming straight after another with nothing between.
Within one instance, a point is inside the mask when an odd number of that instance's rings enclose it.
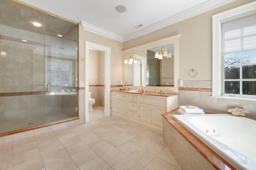
<instances>
[{"instance_id":1,"label":"short stretch of white crown molding above the toilet room doorway","mask_svg":"<svg viewBox=\"0 0 256 170\"><path fill-rule=\"evenodd\" d=\"M101 29L99 27L95 27L94 25L91 25L91 24L86 23L84 21L80 21L80 23L82 24L82 27L86 31L90 31L92 33L96 33L96 34L102 35L104 37L108 37L108 38L111 38L111 39L114 39L114 40L117 40L117 41L124 42L123 37L120 36L120 35L117 35L117 34L114 34L112 32L106 31L106 30Z\"/></svg>"}]
</instances>

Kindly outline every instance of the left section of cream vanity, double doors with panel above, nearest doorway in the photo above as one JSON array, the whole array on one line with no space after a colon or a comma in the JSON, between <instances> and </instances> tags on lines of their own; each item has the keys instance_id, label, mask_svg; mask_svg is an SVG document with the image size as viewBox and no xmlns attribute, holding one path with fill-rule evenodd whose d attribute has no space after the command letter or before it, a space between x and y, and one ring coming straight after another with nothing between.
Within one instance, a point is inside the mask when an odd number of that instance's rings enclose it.
<instances>
[{"instance_id":1,"label":"left section of cream vanity, double doors with panel above, nearest doorway","mask_svg":"<svg viewBox=\"0 0 256 170\"><path fill-rule=\"evenodd\" d=\"M111 95L111 108L112 108L112 113L126 117L127 113L127 94L125 93L112 93Z\"/></svg>"}]
</instances>

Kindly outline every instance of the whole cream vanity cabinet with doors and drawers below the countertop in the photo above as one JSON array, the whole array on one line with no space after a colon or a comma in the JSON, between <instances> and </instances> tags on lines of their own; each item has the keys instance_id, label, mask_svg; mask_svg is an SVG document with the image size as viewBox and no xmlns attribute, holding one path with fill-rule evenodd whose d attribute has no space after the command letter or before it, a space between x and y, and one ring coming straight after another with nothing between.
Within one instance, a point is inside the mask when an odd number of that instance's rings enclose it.
<instances>
[{"instance_id":1,"label":"whole cream vanity cabinet with doors and drawers below the countertop","mask_svg":"<svg viewBox=\"0 0 256 170\"><path fill-rule=\"evenodd\" d=\"M123 107L123 108L120 108ZM111 115L163 133L162 114L178 107L178 95L155 96L111 92Z\"/></svg>"}]
</instances>

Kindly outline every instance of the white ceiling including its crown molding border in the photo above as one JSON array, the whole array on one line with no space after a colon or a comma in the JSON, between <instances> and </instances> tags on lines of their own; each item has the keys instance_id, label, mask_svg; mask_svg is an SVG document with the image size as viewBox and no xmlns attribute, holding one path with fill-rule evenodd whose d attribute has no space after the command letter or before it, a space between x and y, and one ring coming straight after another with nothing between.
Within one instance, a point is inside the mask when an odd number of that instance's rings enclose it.
<instances>
[{"instance_id":1,"label":"white ceiling including its crown molding border","mask_svg":"<svg viewBox=\"0 0 256 170\"><path fill-rule=\"evenodd\" d=\"M82 23L85 30L121 42L236 0L16 0ZM115 10L123 5L126 12ZM136 25L142 27L134 28Z\"/></svg>"}]
</instances>

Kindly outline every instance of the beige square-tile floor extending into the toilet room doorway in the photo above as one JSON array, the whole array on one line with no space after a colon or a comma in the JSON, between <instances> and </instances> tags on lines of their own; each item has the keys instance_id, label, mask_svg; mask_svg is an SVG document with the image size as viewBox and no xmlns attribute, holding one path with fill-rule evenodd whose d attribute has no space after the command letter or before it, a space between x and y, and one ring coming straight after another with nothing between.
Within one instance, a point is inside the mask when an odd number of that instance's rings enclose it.
<instances>
[{"instance_id":1,"label":"beige square-tile floor extending into the toilet room doorway","mask_svg":"<svg viewBox=\"0 0 256 170\"><path fill-rule=\"evenodd\" d=\"M0 170L181 170L159 133L104 117L0 145Z\"/></svg>"}]
</instances>

